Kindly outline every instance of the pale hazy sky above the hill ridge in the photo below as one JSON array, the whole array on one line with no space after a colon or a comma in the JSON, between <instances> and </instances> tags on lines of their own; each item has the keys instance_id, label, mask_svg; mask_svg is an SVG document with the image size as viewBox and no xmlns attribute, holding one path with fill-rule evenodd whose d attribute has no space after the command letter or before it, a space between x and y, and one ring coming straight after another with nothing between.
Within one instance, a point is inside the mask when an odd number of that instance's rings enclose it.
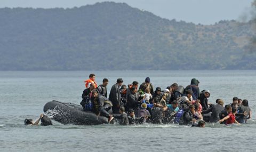
<instances>
[{"instance_id":1,"label":"pale hazy sky above the hill ridge","mask_svg":"<svg viewBox=\"0 0 256 152\"><path fill-rule=\"evenodd\" d=\"M246 21L253 0L112 0L143 9L166 19L214 24L220 20ZM104 2L101 0L0 0L3 7L72 8Z\"/></svg>"}]
</instances>

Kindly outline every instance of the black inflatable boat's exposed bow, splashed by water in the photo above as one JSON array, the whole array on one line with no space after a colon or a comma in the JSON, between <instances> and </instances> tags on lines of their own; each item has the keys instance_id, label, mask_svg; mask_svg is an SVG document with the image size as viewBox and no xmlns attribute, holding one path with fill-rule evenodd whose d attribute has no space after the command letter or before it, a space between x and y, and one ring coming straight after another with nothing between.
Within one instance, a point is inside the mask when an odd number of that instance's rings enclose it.
<instances>
[{"instance_id":1,"label":"black inflatable boat's exposed bow, splashed by water","mask_svg":"<svg viewBox=\"0 0 256 152\"><path fill-rule=\"evenodd\" d=\"M97 116L91 111L84 111L81 105L74 103L53 100L44 105L44 113L48 110L52 111L52 119L62 124L97 125L108 123L106 117Z\"/></svg>"}]
</instances>

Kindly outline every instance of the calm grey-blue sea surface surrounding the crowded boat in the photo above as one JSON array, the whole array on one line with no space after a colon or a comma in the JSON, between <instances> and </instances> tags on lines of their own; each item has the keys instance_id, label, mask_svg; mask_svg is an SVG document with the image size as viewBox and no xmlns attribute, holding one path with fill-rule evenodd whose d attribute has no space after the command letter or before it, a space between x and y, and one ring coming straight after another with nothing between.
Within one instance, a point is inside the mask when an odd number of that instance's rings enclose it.
<instances>
[{"instance_id":1,"label":"calm grey-blue sea surface surrounding the crowded boat","mask_svg":"<svg viewBox=\"0 0 256 152\"><path fill-rule=\"evenodd\" d=\"M204 129L168 125L62 125L25 126L37 119L46 102L81 102L83 81L96 75L109 79L108 92L118 77L124 84L150 77L154 88L172 83L187 86L191 78L200 90L231 103L234 96L249 100L252 119L247 124L207 124ZM256 151L256 71L0 71L0 151Z\"/></svg>"}]
</instances>

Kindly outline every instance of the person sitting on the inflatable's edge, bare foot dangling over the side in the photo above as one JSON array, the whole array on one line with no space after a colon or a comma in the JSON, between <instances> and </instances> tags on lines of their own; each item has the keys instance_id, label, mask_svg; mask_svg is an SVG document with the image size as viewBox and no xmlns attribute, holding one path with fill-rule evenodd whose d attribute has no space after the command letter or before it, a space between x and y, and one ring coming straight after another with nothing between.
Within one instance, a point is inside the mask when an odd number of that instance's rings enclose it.
<instances>
[{"instance_id":1,"label":"person sitting on the inflatable's edge, bare foot dangling over the side","mask_svg":"<svg viewBox=\"0 0 256 152\"><path fill-rule=\"evenodd\" d=\"M92 91L92 111L97 116L105 116L108 118L108 122L110 122L114 117L108 113L111 109L112 102L109 101L105 96L98 93L98 91Z\"/></svg>"}]
</instances>

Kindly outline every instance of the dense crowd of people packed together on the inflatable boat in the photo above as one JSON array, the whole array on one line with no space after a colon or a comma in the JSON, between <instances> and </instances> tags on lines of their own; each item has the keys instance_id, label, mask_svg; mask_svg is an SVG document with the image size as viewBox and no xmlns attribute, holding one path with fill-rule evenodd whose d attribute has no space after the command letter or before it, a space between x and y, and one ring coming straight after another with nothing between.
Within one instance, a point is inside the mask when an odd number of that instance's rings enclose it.
<instances>
[{"instance_id":1,"label":"dense crowd of people packed together on the inflatable boat","mask_svg":"<svg viewBox=\"0 0 256 152\"><path fill-rule=\"evenodd\" d=\"M117 78L107 97L108 79L104 78L98 86L95 75L90 74L85 81L81 105L86 111L107 117L109 123L117 118L121 125L177 123L204 127L205 122L241 124L251 118L246 99L234 97L233 102L224 107L222 99L209 103L210 91L200 91L198 84L193 78L186 87L173 83L164 90L161 87L154 90L149 77L140 85L133 81L127 86L122 78Z\"/></svg>"}]
</instances>

